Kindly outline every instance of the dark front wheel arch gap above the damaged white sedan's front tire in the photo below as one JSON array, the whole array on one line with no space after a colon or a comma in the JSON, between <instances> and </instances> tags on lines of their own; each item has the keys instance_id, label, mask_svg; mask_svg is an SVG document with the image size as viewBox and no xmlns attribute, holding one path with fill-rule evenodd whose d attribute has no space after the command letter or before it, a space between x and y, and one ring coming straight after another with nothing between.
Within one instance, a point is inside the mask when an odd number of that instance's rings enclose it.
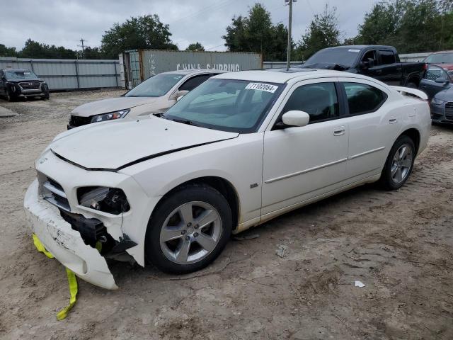
<instances>
[{"instance_id":1,"label":"dark front wheel arch gap above the damaged white sedan's front tire","mask_svg":"<svg viewBox=\"0 0 453 340\"><path fill-rule=\"evenodd\" d=\"M240 201L239 201L239 194L236 191L236 188L234 185L228 181L227 179L224 179L223 177L219 176L200 176L196 177L194 179L190 179L188 181L185 181L183 183L179 183L177 186L174 186L171 188L169 191L167 191L164 196L162 196L157 204L154 206L153 211L151 212L150 219L153 217L154 212L156 209L161 205L161 203L164 201L165 198L170 196L172 193L175 191L180 190L180 188L183 188L184 186L190 186L190 185L207 185L211 186L212 188L216 189L219 191L219 193L224 196L226 201L228 202L230 208L231 208L231 215L233 217L233 230L237 229L239 225L239 214L240 214Z\"/></svg>"}]
</instances>

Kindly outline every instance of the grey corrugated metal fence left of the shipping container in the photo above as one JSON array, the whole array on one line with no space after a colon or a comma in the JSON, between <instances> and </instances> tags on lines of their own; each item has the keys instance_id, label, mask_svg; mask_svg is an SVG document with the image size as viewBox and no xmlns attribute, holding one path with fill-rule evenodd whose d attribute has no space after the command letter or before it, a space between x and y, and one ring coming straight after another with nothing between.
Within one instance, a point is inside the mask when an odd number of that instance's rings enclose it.
<instances>
[{"instance_id":1,"label":"grey corrugated metal fence left of the shipping container","mask_svg":"<svg viewBox=\"0 0 453 340\"><path fill-rule=\"evenodd\" d=\"M0 69L31 69L50 91L120 87L119 60L0 57Z\"/></svg>"}]
</instances>

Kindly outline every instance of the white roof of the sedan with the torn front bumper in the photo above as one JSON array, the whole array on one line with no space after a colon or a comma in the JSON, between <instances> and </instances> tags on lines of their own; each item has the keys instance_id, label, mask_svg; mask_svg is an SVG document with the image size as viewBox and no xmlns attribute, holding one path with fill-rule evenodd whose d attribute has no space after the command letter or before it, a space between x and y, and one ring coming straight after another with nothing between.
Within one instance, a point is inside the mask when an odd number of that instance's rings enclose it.
<instances>
[{"instance_id":1,"label":"white roof of the sedan with the torn front bumper","mask_svg":"<svg viewBox=\"0 0 453 340\"><path fill-rule=\"evenodd\" d=\"M253 71L239 71L218 74L211 79L235 79L246 81L265 81L268 83L285 84L304 79L326 78L326 77L353 77L369 79L360 74L350 74L348 72L333 71L330 69L260 69Z\"/></svg>"}]
</instances>

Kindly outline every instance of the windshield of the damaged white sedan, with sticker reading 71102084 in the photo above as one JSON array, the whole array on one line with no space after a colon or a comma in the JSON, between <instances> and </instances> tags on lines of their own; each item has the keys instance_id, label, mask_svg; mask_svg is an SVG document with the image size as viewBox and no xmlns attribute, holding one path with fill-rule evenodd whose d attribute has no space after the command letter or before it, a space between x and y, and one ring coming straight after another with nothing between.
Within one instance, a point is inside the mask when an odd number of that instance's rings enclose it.
<instances>
[{"instance_id":1,"label":"windshield of the damaged white sedan, with sticker reading 71102084","mask_svg":"<svg viewBox=\"0 0 453 340\"><path fill-rule=\"evenodd\" d=\"M282 84L210 79L183 96L164 118L229 132L255 132Z\"/></svg>"}]
</instances>

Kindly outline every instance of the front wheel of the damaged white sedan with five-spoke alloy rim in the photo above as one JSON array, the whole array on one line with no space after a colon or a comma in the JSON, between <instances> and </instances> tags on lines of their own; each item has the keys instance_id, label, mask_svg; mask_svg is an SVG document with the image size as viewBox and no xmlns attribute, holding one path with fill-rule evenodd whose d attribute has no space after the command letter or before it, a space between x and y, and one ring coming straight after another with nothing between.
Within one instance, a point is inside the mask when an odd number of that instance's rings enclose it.
<instances>
[{"instance_id":1,"label":"front wheel of the damaged white sedan with five-spoke alloy rim","mask_svg":"<svg viewBox=\"0 0 453 340\"><path fill-rule=\"evenodd\" d=\"M151 215L145 256L166 273L198 271L219 256L231 229L231 208L219 191L206 185L183 186Z\"/></svg>"}]
</instances>

